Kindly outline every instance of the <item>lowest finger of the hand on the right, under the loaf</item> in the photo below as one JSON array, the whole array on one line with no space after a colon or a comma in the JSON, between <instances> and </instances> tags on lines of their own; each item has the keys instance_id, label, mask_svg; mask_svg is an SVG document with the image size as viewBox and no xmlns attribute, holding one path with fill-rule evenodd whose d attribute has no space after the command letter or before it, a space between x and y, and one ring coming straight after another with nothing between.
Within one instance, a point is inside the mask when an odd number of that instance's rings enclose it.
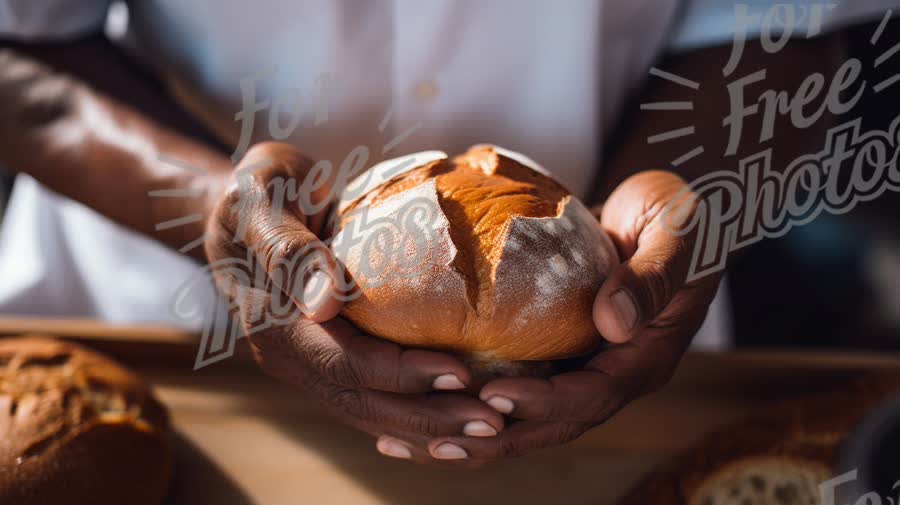
<instances>
[{"instance_id":1,"label":"lowest finger of the hand on the right, under the loaf","mask_svg":"<svg viewBox=\"0 0 900 505\"><path fill-rule=\"evenodd\" d=\"M519 457L538 449L575 440L589 426L578 423L524 421L491 438L437 437L428 443L434 459L490 461Z\"/></svg>"}]
</instances>

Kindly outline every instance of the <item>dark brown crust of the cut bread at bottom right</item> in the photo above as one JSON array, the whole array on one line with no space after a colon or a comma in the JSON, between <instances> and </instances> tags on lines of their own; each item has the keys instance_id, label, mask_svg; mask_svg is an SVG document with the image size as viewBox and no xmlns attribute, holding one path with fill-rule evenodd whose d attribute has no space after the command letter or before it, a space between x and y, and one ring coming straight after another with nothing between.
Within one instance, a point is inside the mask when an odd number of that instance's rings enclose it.
<instances>
[{"instance_id":1,"label":"dark brown crust of the cut bread at bottom right","mask_svg":"<svg viewBox=\"0 0 900 505\"><path fill-rule=\"evenodd\" d=\"M723 472L780 462L832 469L841 444L865 415L900 390L900 375L872 374L846 388L774 402L708 434L638 483L619 505L689 505Z\"/></svg>"}]
</instances>

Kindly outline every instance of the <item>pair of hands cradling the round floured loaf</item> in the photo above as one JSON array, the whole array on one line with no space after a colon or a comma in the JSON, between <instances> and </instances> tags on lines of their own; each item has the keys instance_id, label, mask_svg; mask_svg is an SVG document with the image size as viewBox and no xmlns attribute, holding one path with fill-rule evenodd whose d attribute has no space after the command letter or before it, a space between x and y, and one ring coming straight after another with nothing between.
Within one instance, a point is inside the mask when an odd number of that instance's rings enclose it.
<instances>
[{"instance_id":1,"label":"pair of hands cradling the round floured loaf","mask_svg":"<svg viewBox=\"0 0 900 505\"><path fill-rule=\"evenodd\" d=\"M666 206L685 197L685 182L668 172L634 175L609 197L600 219L623 258L594 304L597 328L613 345L580 370L549 379L500 378L473 396L466 391L472 376L460 359L364 335L337 317L338 298L305 297L308 279L279 271L312 248L322 256L318 280L331 290L340 285L334 258L316 247L325 233L331 187L305 190L300 184L312 166L285 144L252 148L210 219L206 252L214 263L247 257L249 249L279 288L251 289L238 299L244 288L217 278L220 290L238 300L245 326L278 298L302 306L303 315L291 324L248 336L257 361L346 424L375 436L386 456L470 466L577 438L668 381L718 286L717 276L685 282L693 236L676 236L663 222ZM282 198L272 190L275 180L296 181L305 191L299 197L321 210L304 213L301 207L308 205L273 201Z\"/></svg>"}]
</instances>

